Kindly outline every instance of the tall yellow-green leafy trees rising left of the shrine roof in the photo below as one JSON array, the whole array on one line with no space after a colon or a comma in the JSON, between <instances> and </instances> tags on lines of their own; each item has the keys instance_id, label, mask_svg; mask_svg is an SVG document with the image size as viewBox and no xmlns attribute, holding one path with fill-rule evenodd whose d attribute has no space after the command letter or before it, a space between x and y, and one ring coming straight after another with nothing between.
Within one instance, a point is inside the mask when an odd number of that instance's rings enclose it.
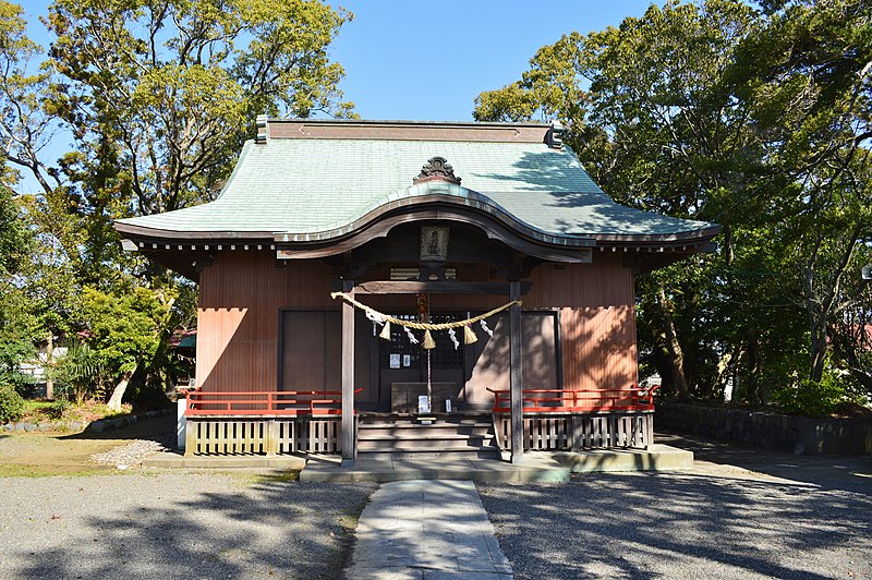
<instances>
[{"instance_id":1,"label":"tall yellow-green leafy trees rising left of the shrine roof","mask_svg":"<svg viewBox=\"0 0 872 580\"><path fill-rule=\"evenodd\" d=\"M134 370L167 374L155 341L190 318L192 286L122 253L112 220L215 198L256 114L352 116L327 53L351 17L318 0L57 0L40 63L21 8L0 0L0 179L14 188L26 171L41 188L20 198L36 235L19 290L49 366L55 341L88 327L116 399ZM58 131L74 149L56 162L45 145ZM186 310L170 319L177 294Z\"/></svg>"}]
</instances>

